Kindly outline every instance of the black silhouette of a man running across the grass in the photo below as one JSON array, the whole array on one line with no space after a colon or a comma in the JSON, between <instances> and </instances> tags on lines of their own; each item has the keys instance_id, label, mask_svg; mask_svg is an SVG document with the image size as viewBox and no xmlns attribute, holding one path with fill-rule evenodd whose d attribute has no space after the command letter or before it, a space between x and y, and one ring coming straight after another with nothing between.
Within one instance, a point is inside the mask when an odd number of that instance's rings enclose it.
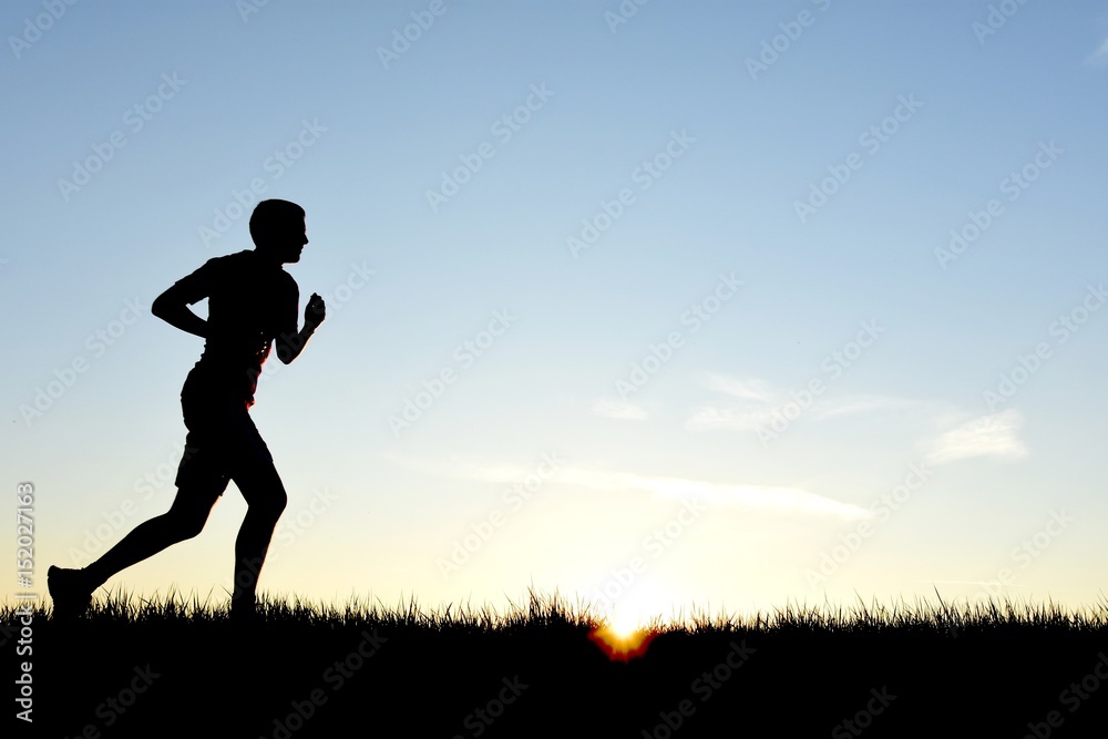
<instances>
[{"instance_id":1,"label":"black silhouette of a man running across the grass","mask_svg":"<svg viewBox=\"0 0 1108 739\"><path fill-rule=\"evenodd\" d=\"M204 353L181 390L188 433L177 495L167 513L140 524L88 567L50 567L48 584L59 616L82 613L92 592L117 572L198 534L230 480L249 505L235 542L232 616L254 616L258 574L287 497L249 408L270 348L288 365L326 315L322 298L312 294L304 328L297 328L299 290L281 267L300 260L308 243L304 218L295 203L258 203L250 216L254 250L209 259L152 304L153 315L205 339ZM188 307L204 298L207 320Z\"/></svg>"}]
</instances>

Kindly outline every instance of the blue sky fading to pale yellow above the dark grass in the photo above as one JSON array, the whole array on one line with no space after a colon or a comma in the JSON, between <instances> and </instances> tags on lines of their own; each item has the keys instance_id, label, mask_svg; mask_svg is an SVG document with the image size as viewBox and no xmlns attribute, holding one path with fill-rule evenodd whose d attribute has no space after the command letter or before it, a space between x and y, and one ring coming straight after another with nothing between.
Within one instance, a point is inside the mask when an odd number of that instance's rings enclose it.
<instances>
[{"instance_id":1,"label":"blue sky fading to pale yellow above the dark grass","mask_svg":"<svg viewBox=\"0 0 1108 739\"><path fill-rule=\"evenodd\" d=\"M270 593L1104 597L1102 3L58 6L0 11L33 591L168 509L202 341L150 304L260 193L328 305L252 411ZM109 587L226 598L244 512Z\"/></svg>"}]
</instances>

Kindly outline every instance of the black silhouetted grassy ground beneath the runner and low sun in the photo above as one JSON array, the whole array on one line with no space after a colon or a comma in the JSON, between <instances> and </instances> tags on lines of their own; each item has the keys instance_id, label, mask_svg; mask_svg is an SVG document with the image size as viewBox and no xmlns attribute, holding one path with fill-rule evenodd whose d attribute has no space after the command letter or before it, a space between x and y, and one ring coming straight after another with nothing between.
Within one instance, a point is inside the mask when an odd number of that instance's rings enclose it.
<instances>
[{"instance_id":1,"label":"black silhouetted grassy ground beneath the runner and low sun","mask_svg":"<svg viewBox=\"0 0 1108 739\"><path fill-rule=\"evenodd\" d=\"M0 606L9 642L18 618ZM1102 737L1108 726L1108 601L1075 610L936 593L694 609L656 619L630 659L591 638L601 614L557 593L504 609L263 596L242 625L211 594L117 591L72 622L40 605L32 624L37 728L52 737L291 739L392 723L414 737Z\"/></svg>"}]
</instances>

